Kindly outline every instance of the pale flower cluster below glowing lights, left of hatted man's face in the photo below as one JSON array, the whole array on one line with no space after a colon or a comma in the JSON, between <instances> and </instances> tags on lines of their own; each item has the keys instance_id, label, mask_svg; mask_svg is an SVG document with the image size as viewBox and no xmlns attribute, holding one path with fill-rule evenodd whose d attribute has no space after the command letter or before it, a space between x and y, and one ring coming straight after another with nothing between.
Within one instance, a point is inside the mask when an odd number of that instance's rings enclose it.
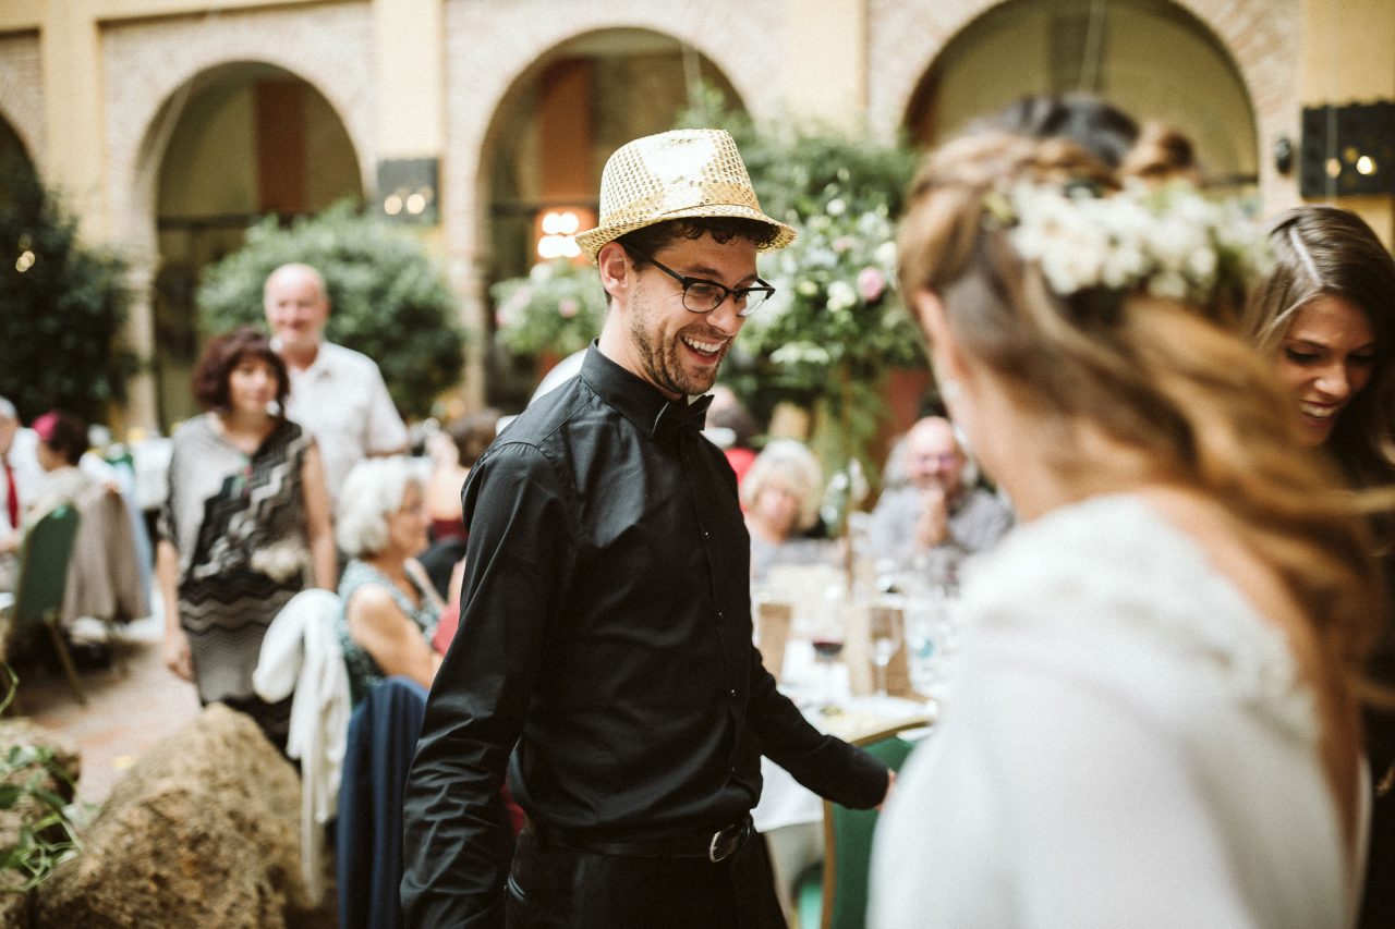
<instances>
[{"instance_id":1,"label":"pale flower cluster below glowing lights, left of hatted man's face","mask_svg":"<svg viewBox=\"0 0 1395 929\"><path fill-rule=\"evenodd\" d=\"M501 280L490 294L499 342L515 354L565 357L590 345L605 319L600 273L565 258Z\"/></svg>"}]
</instances>

